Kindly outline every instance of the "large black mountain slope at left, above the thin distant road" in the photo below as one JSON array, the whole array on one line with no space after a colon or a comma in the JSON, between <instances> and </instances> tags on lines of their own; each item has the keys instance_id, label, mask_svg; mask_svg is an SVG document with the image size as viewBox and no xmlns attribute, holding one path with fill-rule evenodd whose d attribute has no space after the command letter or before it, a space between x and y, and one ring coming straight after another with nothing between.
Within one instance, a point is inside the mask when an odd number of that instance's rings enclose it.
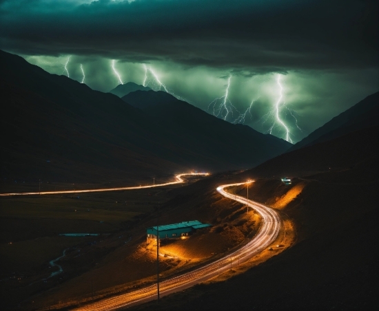
<instances>
[{"instance_id":1,"label":"large black mountain slope at left, above the thin distant road","mask_svg":"<svg viewBox=\"0 0 379 311\"><path fill-rule=\"evenodd\" d=\"M191 133L200 122L196 119L179 132L180 124L166 124L113 94L48 74L19 56L0 56L1 96L6 99L0 117L3 178L125 181L187 169L238 169L288 147L250 134L243 134L242 145L242 130L229 133L223 128L238 127L212 116L216 122L209 124L220 127L222 135L211 135L218 130L203 125L203 131Z\"/></svg>"}]
</instances>

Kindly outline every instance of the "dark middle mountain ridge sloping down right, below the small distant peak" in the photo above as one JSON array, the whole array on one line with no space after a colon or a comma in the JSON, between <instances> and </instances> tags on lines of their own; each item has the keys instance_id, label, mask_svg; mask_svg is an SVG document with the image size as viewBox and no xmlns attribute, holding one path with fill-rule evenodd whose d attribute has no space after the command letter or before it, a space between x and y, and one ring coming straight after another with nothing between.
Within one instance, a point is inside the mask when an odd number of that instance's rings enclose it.
<instances>
[{"instance_id":1,"label":"dark middle mountain ridge sloping down right, below the small distant peak","mask_svg":"<svg viewBox=\"0 0 379 311\"><path fill-rule=\"evenodd\" d=\"M260 159L272 158L291 146L275 136L220 120L165 92L137 91L122 99L172 129L166 133L170 141L209 156L224 155L231 162L238 158L243 166L253 159L258 163ZM220 156L215 156L215 160Z\"/></svg>"}]
</instances>

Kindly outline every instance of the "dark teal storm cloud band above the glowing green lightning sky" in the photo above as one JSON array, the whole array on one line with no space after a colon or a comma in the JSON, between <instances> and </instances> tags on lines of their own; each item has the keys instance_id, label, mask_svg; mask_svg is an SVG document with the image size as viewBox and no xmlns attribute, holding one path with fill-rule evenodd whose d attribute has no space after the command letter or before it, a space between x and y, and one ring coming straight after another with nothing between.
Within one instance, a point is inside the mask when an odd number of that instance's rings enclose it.
<instances>
[{"instance_id":1,"label":"dark teal storm cloud band above the glowing green lightning sky","mask_svg":"<svg viewBox=\"0 0 379 311\"><path fill-rule=\"evenodd\" d=\"M376 1L1 1L1 49L232 69L378 65Z\"/></svg>"}]
</instances>

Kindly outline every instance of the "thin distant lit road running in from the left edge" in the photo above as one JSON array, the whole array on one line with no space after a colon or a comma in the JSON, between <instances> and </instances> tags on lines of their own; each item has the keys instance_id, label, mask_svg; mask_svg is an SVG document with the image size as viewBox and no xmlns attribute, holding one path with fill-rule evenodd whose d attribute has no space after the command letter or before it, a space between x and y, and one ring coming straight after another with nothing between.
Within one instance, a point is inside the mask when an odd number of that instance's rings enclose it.
<instances>
[{"instance_id":1,"label":"thin distant lit road running in from the left edge","mask_svg":"<svg viewBox=\"0 0 379 311\"><path fill-rule=\"evenodd\" d=\"M21 192L21 193L0 193L0 196L6 195L52 195L52 194L62 194L62 193L88 193L88 192L105 192L105 191L121 191L121 190L133 190L133 189L146 189L155 188L161 186L169 186L170 184L181 184L184 182L182 176L185 175L209 175L209 173L183 173L176 175L176 182L165 182L164 184L150 184L148 186L131 186L131 187L121 187L121 188L106 188L106 189L89 189L89 190L64 190L64 191L41 191L41 192Z\"/></svg>"}]
</instances>

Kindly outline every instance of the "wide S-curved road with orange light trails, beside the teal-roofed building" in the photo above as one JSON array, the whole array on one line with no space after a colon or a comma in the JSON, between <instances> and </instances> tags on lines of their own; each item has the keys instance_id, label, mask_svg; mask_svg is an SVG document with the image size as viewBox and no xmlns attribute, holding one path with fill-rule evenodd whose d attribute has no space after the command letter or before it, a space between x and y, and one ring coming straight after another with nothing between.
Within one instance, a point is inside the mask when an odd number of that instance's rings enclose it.
<instances>
[{"instance_id":1,"label":"wide S-curved road with orange light trails, beside the teal-roofed building","mask_svg":"<svg viewBox=\"0 0 379 311\"><path fill-rule=\"evenodd\" d=\"M245 182L239 184L225 184L223 186L219 186L217 191L229 199L254 208L254 210L260 214L262 217L262 224L258 230L258 233L250 242L234 251L232 254L226 255L211 264L207 264L206 266L202 266L201 268L197 268L191 272L179 275L178 277L161 281L159 283L161 297L171 294L172 292L184 290L185 288L194 286L195 284L211 279L212 277L216 277L220 273L229 270L231 267L236 267L238 264L254 257L274 242L278 236L281 226L278 213L263 204L247 200L245 197L227 193L224 190L229 186L239 186L240 184L245 184ZM126 294L120 294L112 298L103 299L75 310L116 310L118 308L125 308L128 305L143 303L154 299L156 299L156 284L141 288L139 290L134 290L133 292L128 292Z\"/></svg>"}]
</instances>

